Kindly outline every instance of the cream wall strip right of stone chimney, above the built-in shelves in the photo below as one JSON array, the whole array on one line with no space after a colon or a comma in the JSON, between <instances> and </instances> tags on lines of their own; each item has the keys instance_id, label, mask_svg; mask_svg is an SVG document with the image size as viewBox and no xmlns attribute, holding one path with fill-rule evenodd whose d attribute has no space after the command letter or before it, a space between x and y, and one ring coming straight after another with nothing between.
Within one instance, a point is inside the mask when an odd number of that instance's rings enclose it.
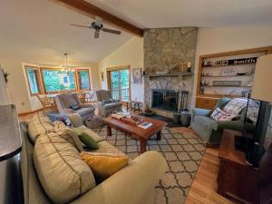
<instances>
[{"instance_id":1,"label":"cream wall strip right of stone chimney, above the built-in shelves","mask_svg":"<svg viewBox=\"0 0 272 204\"><path fill-rule=\"evenodd\" d=\"M272 45L272 26L199 28L193 90L195 103L199 55Z\"/></svg>"}]
</instances>

